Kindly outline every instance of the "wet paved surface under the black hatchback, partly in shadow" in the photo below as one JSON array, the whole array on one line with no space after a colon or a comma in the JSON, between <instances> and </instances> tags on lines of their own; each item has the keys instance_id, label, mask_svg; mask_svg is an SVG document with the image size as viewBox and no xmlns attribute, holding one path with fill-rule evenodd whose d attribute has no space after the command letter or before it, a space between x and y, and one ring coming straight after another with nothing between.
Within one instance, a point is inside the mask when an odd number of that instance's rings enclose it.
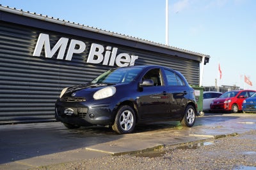
<instances>
[{"instance_id":1,"label":"wet paved surface under the black hatchback, partly in shadow","mask_svg":"<svg viewBox=\"0 0 256 170\"><path fill-rule=\"evenodd\" d=\"M132 134L109 127L67 129L60 122L0 125L0 169L29 169L49 164L143 152L164 146L241 134L256 129L256 114L205 114L196 124L137 125Z\"/></svg>"}]
</instances>

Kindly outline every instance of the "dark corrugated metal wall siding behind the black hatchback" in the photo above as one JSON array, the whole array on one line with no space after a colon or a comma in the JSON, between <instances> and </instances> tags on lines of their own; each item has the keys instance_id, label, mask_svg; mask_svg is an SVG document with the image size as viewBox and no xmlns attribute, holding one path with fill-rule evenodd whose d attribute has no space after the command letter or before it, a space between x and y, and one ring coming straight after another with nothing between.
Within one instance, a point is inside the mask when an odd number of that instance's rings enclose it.
<instances>
[{"instance_id":1,"label":"dark corrugated metal wall siding behind the black hatchback","mask_svg":"<svg viewBox=\"0 0 256 170\"><path fill-rule=\"evenodd\" d=\"M50 35L52 46L61 37L66 37L84 41L86 50L82 54L73 55L71 61L58 60L56 56L47 59L44 52L41 57L33 57L40 33ZM54 118L54 103L63 88L91 81L110 68L86 63L90 44L105 45L106 42L71 36L0 22L0 121ZM199 82L198 62L125 46L113 46L118 47L118 53L132 52L133 55L138 55L135 65L159 64L172 67L184 74L189 83L196 85Z\"/></svg>"}]
</instances>

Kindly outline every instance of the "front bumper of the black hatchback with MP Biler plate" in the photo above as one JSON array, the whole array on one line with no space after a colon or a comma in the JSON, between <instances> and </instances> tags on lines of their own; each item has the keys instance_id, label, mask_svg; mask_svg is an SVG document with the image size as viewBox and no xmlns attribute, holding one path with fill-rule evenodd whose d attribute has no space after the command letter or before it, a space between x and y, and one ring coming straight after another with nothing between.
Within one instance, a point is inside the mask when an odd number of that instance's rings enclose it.
<instances>
[{"instance_id":1,"label":"front bumper of the black hatchback with MP Biler plate","mask_svg":"<svg viewBox=\"0 0 256 170\"><path fill-rule=\"evenodd\" d=\"M56 120L72 125L111 125L115 116L115 106L111 103L65 103L57 101L55 104Z\"/></svg>"}]
</instances>

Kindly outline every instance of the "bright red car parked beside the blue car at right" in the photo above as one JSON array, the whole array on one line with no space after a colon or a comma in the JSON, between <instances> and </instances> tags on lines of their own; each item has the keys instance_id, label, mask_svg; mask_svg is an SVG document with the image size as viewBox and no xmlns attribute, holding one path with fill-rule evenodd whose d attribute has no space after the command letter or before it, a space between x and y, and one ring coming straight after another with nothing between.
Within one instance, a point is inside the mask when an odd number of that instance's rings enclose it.
<instances>
[{"instance_id":1,"label":"bright red car parked beside the blue car at right","mask_svg":"<svg viewBox=\"0 0 256 170\"><path fill-rule=\"evenodd\" d=\"M234 90L225 92L220 97L214 99L210 105L211 112L228 111L237 113L242 111L244 99L251 97L255 90Z\"/></svg>"}]
</instances>

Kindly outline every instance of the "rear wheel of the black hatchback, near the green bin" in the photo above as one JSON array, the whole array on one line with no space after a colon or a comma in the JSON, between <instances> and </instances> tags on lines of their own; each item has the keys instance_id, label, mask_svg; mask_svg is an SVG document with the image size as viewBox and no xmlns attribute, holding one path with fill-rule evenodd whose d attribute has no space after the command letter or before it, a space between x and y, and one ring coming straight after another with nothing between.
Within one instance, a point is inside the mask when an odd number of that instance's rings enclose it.
<instances>
[{"instance_id":1,"label":"rear wheel of the black hatchback, near the green bin","mask_svg":"<svg viewBox=\"0 0 256 170\"><path fill-rule=\"evenodd\" d=\"M180 121L181 125L184 127L192 127L195 124L196 120L196 111L195 108L191 105L188 105L184 117Z\"/></svg>"}]
</instances>

